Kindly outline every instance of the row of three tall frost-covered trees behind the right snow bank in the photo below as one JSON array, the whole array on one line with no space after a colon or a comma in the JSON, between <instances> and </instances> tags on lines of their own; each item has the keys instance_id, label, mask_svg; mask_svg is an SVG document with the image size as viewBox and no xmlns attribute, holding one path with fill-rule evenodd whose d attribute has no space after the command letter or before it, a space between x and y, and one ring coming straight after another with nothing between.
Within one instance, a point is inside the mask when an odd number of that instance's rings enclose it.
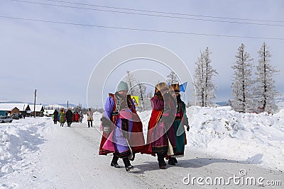
<instances>
[{"instance_id":1,"label":"row of three tall frost-covered trees behind the right snow bank","mask_svg":"<svg viewBox=\"0 0 284 189\"><path fill-rule=\"evenodd\" d=\"M212 77L217 76L216 69L212 68L211 52L207 47L200 52L200 57L195 62L195 89L197 105L206 107L214 105L216 85ZM275 105L275 81L273 75L276 70L271 65L271 52L266 42L263 42L261 49L258 50L258 65L256 66L255 79L253 79L253 58L246 52L245 45L242 43L235 55L236 61L231 66L234 69L233 81L231 84L231 94L233 99L228 101L233 110L240 113L273 113L278 110Z\"/></svg>"}]
</instances>

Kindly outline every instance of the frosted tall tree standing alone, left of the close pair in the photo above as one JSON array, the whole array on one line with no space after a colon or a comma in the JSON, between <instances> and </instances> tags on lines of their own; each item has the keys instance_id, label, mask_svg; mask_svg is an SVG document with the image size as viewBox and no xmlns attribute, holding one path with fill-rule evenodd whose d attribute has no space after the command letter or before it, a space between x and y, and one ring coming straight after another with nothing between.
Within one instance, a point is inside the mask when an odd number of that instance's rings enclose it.
<instances>
[{"instance_id":1,"label":"frosted tall tree standing alone, left of the close pair","mask_svg":"<svg viewBox=\"0 0 284 189\"><path fill-rule=\"evenodd\" d=\"M218 73L211 66L211 52L207 47L204 52L200 52L200 57L197 58L195 64L195 88L197 96L197 104L200 106L211 106L215 98L215 85L212 82L212 77Z\"/></svg>"}]
</instances>

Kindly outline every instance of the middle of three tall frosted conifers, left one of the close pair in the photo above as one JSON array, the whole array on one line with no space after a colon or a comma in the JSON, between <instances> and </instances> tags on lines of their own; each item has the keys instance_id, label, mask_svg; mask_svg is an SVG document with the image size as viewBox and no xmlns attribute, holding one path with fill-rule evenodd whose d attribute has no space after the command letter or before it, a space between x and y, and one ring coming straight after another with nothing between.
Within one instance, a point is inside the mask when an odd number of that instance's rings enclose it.
<instances>
[{"instance_id":1,"label":"middle of three tall frosted conifers, left one of the close pair","mask_svg":"<svg viewBox=\"0 0 284 189\"><path fill-rule=\"evenodd\" d=\"M234 79L231 85L231 93L234 96L232 108L240 113L252 111L252 61L249 53L245 51L242 43L236 54L236 62L232 66L234 69Z\"/></svg>"}]
</instances>

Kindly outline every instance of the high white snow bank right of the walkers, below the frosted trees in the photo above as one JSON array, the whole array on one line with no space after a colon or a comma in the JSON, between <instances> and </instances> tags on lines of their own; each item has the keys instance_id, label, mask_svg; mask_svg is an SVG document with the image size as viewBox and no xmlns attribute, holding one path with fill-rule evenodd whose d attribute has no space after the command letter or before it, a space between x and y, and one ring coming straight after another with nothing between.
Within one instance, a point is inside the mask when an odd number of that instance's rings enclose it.
<instances>
[{"instance_id":1,"label":"high white snow bank right of the walkers, below the frosted trees","mask_svg":"<svg viewBox=\"0 0 284 189\"><path fill-rule=\"evenodd\" d=\"M236 113L230 107L191 107L187 115L192 118L187 132L188 151L195 147L284 170L284 110L268 115Z\"/></svg>"}]
</instances>

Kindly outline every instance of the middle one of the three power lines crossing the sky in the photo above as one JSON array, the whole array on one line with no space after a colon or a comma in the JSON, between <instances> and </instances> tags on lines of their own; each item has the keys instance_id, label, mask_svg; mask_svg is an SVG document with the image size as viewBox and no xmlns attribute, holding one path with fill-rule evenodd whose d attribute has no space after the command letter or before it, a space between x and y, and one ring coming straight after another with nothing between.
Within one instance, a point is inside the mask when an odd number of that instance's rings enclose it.
<instances>
[{"instance_id":1,"label":"middle one of the three power lines crossing the sky","mask_svg":"<svg viewBox=\"0 0 284 189\"><path fill-rule=\"evenodd\" d=\"M45 4L39 3L34 1L22 1L22 0L11 0L17 1L27 4L40 4L45 6L58 6L64 8L77 8L77 9L84 9L90 11L104 11L104 12L111 12L111 13L125 13L125 14L132 14L132 15L140 15L140 16L155 16L155 17L162 17L162 18L178 18L178 19L185 19L185 20L194 20L194 21L210 21L210 22L219 22L219 23L238 23L238 24L248 24L248 25L269 25L269 26L280 26L283 27L284 25L280 24L270 24L270 23L248 23L248 22L239 22L239 21L220 21L220 20L210 20L210 19L203 19L203 18L187 18L187 17L180 17L180 16L163 16L163 15L156 15L156 14L148 14L148 13L133 13L133 12L124 12L124 11L111 11L111 10L104 10L98 8L84 8L84 7L77 7L77 6L65 6L65 5L58 5L58 4ZM47 0L51 1L51 0Z\"/></svg>"}]
</instances>

